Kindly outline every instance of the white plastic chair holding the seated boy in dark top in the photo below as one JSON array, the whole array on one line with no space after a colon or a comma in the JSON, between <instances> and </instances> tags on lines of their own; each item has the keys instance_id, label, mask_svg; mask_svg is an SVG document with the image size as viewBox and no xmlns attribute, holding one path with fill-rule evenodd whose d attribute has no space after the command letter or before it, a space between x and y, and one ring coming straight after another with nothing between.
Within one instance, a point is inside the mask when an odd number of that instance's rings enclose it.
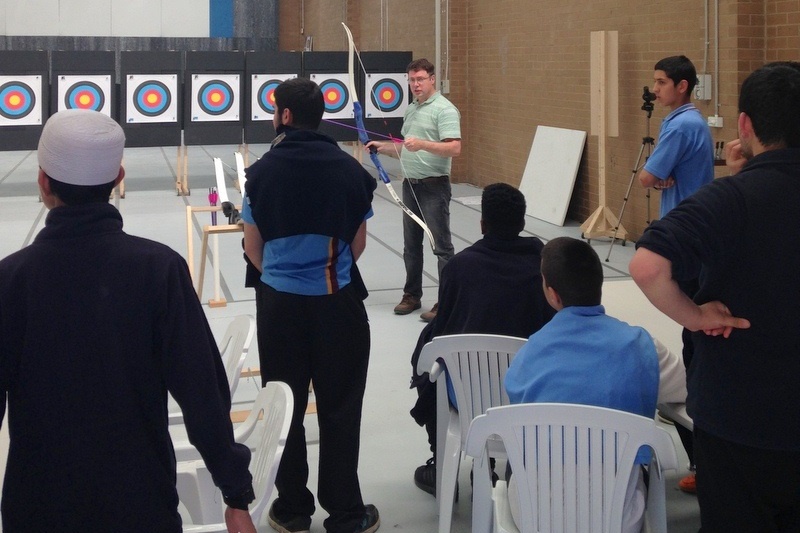
<instances>
[{"instance_id":1,"label":"white plastic chair holding the seated boy in dark top","mask_svg":"<svg viewBox=\"0 0 800 533\"><path fill-rule=\"evenodd\" d=\"M458 485L461 451L473 418L490 407L507 405L503 384L508 365L527 339L506 335L461 334L434 338L422 348L417 373L436 382L436 498L439 533L448 533ZM447 369L458 410L447 398ZM495 455L498 453L495 450Z\"/></svg>"}]
</instances>

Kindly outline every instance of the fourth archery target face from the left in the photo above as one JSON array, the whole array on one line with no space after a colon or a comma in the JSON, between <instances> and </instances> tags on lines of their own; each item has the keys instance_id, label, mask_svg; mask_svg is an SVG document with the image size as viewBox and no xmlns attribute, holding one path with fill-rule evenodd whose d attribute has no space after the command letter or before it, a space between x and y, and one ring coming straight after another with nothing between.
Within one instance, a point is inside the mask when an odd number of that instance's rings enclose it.
<instances>
[{"instance_id":1,"label":"fourth archery target face from the left","mask_svg":"<svg viewBox=\"0 0 800 533\"><path fill-rule=\"evenodd\" d=\"M192 76L192 122L239 120L239 74Z\"/></svg>"}]
</instances>

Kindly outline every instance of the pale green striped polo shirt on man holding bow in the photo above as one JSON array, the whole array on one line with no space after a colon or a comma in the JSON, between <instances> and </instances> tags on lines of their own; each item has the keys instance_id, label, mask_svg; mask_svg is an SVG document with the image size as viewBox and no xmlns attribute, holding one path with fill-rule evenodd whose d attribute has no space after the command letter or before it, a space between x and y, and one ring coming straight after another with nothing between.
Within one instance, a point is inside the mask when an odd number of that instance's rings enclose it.
<instances>
[{"instance_id":1,"label":"pale green striped polo shirt on man holding bow","mask_svg":"<svg viewBox=\"0 0 800 533\"><path fill-rule=\"evenodd\" d=\"M426 141L461 139L461 114L456 106L438 91L420 104L414 100L403 117L403 137ZM434 155L425 150L403 150L400 160L407 178L422 179L450 174L452 158Z\"/></svg>"}]
</instances>

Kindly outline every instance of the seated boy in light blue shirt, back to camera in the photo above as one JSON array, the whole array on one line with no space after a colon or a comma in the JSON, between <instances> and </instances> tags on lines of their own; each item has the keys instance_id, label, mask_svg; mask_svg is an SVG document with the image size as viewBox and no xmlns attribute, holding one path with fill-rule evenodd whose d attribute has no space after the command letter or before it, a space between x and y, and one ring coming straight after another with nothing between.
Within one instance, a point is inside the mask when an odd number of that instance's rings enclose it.
<instances>
[{"instance_id":1,"label":"seated boy in light blue shirt, back to camera","mask_svg":"<svg viewBox=\"0 0 800 533\"><path fill-rule=\"evenodd\" d=\"M652 418L657 401L686 398L686 373L678 356L643 328L605 314L602 264L588 243L570 237L548 242L542 250L542 278L547 302L557 312L511 362L505 386L512 403L594 405ZM646 489L634 474L626 495L625 532L641 531L644 520Z\"/></svg>"}]
</instances>

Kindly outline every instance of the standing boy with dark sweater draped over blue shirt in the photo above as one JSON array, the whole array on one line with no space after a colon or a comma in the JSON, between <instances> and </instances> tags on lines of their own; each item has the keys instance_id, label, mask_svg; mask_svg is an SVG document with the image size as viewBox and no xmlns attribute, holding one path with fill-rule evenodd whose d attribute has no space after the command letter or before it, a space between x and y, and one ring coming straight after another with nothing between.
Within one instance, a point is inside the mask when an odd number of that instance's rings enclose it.
<instances>
[{"instance_id":1,"label":"standing boy with dark sweater draped over blue shirt","mask_svg":"<svg viewBox=\"0 0 800 533\"><path fill-rule=\"evenodd\" d=\"M376 182L335 140L315 131L324 101L313 81L283 82L275 108L273 124L283 137L247 169L242 208L245 253L261 271L261 377L286 382L295 398L269 524L281 533L311 525L303 418L313 381L325 529L372 533L380 517L374 505L364 505L358 480L370 330L356 261L366 247Z\"/></svg>"}]
</instances>

